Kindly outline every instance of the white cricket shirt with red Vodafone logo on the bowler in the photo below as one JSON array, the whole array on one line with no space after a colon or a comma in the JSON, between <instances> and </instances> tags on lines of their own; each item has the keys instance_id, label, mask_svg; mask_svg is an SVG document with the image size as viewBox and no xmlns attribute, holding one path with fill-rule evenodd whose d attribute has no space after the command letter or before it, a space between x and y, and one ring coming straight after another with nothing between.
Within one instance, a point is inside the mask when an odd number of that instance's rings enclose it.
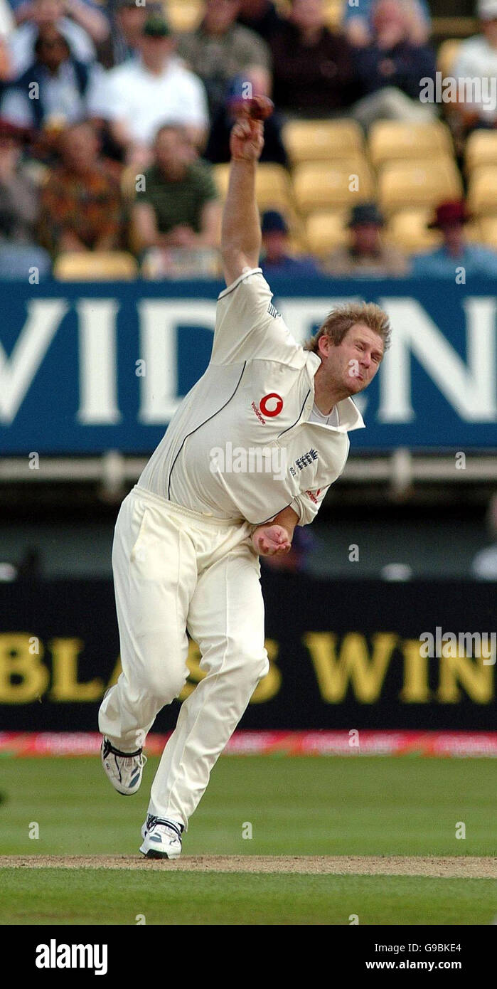
<instances>
[{"instance_id":1,"label":"white cricket shirt with red Vodafone logo on the bowler","mask_svg":"<svg viewBox=\"0 0 497 989\"><path fill-rule=\"evenodd\" d=\"M221 292L207 371L173 416L140 488L254 525L288 506L299 525L315 517L345 467L348 432L365 423L352 399L335 405L338 425L310 420L321 360L296 343L271 300L260 268Z\"/></svg>"}]
</instances>

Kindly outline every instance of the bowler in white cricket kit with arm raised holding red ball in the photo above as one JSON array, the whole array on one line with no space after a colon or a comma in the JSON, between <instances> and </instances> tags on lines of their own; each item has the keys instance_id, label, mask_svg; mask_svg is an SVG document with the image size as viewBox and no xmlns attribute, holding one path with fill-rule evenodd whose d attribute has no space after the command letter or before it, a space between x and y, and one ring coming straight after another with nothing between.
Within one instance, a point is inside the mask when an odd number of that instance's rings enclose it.
<instances>
[{"instance_id":1,"label":"bowler in white cricket kit with arm raised holding red ball","mask_svg":"<svg viewBox=\"0 0 497 989\"><path fill-rule=\"evenodd\" d=\"M102 762L115 788L141 781L146 733L188 676L187 632L204 678L184 700L151 788L140 851L175 858L210 769L268 673L261 555L290 552L364 427L352 396L373 380L388 317L337 310L306 348L295 342L257 267L255 197L263 125L231 135L222 224L227 288L210 362L174 415L116 526L113 570L123 674L106 694Z\"/></svg>"}]
</instances>

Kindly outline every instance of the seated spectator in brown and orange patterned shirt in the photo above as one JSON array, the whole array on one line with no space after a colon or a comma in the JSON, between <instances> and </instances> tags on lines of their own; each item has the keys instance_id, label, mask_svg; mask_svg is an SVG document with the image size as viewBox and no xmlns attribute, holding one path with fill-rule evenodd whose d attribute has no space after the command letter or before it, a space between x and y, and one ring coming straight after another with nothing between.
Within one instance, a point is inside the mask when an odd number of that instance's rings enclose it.
<instances>
[{"instance_id":1,"label":"seated spectator in brown and orange patterned shirt","mask_svg":"<svg viewBox=\"0 0 497 989\"><path fill-rule=\"evenodd\" d=\"M74 124L60 137L61 164L41 192L40 241L53 256L121 246L121 191L99 150L89 123Z\"/></svg>"}]
</instances>

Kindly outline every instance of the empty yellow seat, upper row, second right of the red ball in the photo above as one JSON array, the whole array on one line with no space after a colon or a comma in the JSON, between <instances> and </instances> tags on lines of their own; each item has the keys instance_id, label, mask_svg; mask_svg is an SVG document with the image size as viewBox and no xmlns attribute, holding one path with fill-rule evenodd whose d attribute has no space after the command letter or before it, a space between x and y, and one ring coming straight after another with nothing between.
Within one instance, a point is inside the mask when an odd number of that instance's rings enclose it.
<instances>
[{"instance_id":1,"label":"empty yellow seat, upper row, second right of the red ball","mask_svg":"<svg viewBox=\"0 0 497 989\"><path fill-rule=\"evenodd\" d=\"M370 131L369 150L374 168L379 168L385 161L452 155L453 142L447 125L439 122L376 121Z\"/></svg>"}]
</instances>

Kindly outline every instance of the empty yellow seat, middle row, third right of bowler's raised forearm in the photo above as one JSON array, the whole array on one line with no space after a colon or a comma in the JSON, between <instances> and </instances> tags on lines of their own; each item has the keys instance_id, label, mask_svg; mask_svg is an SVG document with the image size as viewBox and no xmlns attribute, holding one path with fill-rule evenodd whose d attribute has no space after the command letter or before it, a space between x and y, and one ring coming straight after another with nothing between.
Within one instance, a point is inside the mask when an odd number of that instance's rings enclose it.
<instances>
[{"instance_id":1,"label":"empty yellow seat, middle row, third right of bowler's raised forearm","mask_svg":"<svg viewBox=\"0 0 497 989\"><path fill-rule=\"evenodd\" d=\"M452 158L387 162L378 178L379 204L386 214L421 206L437 206L462 196L462 183Z\"/></svg>"}]
</instances>

